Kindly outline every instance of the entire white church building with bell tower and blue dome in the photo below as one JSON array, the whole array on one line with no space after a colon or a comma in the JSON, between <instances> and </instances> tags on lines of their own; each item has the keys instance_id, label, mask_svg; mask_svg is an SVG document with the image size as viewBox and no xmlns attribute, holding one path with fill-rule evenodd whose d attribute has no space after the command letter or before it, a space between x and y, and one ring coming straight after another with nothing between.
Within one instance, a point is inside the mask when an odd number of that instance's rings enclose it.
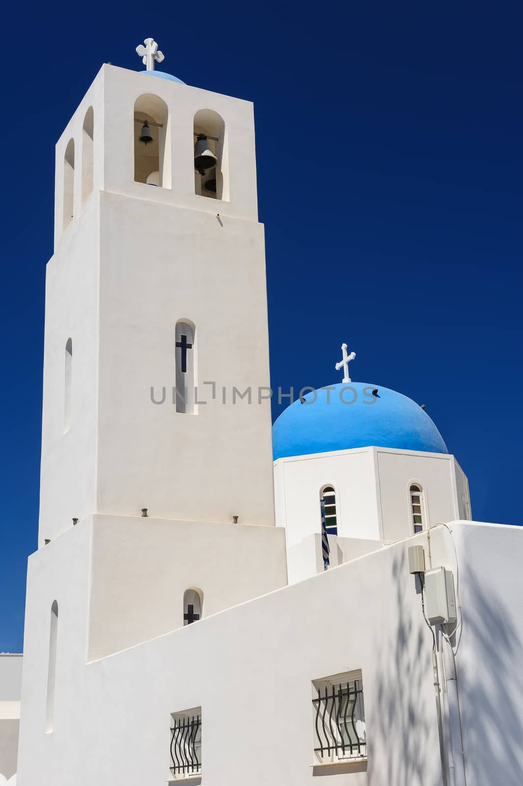
<instances>
[{"instance_id":1,"label":"entire white church building with bell tower and blue dome","mask_svg":"<svg viewBox=\"0 0 523 786\"><path fill-rule=\"evenodd\" d=\"M521 786L523 530L349 336L272 427L253 106L137 52L57 143L0 784Z\"/></svg>"}]
</instances>

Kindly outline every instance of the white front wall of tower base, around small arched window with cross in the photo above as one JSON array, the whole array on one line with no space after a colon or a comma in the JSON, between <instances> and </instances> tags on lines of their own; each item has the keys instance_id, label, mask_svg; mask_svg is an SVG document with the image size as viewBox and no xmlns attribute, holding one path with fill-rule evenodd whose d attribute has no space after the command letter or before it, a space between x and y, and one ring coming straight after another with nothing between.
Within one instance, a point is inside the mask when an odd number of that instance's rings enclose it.
<instances>
[{"instance_id":1,"label":"white front wall of tower base, around small arched window with cross","mask_svg":"<svg viewBox=\"0 0 523 786\"><path fill-rule=\"evenodd\" d=\"M196 587L207 617L286 586L285 533L196 521L92 516L89 660L183 626ZM51 548L51 545L48 546Z\"/></svg>"}]
</instances>

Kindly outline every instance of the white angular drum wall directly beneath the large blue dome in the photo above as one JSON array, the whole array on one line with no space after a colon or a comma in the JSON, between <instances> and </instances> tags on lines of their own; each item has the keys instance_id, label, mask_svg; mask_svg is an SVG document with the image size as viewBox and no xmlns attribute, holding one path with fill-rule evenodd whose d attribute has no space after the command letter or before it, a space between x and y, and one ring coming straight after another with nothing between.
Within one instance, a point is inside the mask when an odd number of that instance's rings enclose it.
<instances>
[{"instance_id":1,"label":"white angular drum wall directly beneath the large blue dome","mask_svg":"<svg viewBox=\"0 0 523 786\"><path fill-rule=\"evenodd\" d=\"M426 526L461 515L458 475L460 494L468 495L461 468L446 454L368 447L280 458L274 462L276 523L285 527L290 549L319 533L320 489L330 484L338 536L393 542L412 534L411 483L422 485Z\"/></svg>"}]
</instances>

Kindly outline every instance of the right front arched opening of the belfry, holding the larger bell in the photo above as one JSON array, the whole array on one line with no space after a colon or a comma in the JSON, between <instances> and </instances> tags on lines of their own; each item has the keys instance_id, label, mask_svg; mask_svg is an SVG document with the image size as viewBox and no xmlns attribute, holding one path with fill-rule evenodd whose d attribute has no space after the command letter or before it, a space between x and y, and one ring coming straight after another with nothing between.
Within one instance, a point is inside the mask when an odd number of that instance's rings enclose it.
<instances>
[{"instance_id":1,"label":"right front arched opening of the belfry, holding the larger bell","mask_svg":"<svg viewBox=\"0 0 523 786\"><path fill-rule=\"evenodd\" d=\"M218 112L200 109L194 116L193 134L195 143L203 134L206 145L217 162L209 168L197 168L195 164L194 189L199 196L229 202L229 148L227 130ZM209 160L207 163L211 163Z\"/></svg>"}]
</instances>

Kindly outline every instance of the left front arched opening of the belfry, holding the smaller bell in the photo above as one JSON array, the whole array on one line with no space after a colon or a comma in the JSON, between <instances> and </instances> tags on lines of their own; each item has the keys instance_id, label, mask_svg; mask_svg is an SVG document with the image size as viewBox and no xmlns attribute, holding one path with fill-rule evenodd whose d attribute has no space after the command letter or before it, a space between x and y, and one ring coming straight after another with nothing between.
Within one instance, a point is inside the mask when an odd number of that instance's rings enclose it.
<instances>
[{"instance_id":1,"label":"left front arched opening of the belfry, holding the smaller bell","mask_svg":"<svg viewBox=\"0 0 523 786\"><path fill-rule=\"evenodd\" d=\"M170 189L169 111L158 96L144 94L134 104L134 180Z\"/></svg>"}]
</instances>

